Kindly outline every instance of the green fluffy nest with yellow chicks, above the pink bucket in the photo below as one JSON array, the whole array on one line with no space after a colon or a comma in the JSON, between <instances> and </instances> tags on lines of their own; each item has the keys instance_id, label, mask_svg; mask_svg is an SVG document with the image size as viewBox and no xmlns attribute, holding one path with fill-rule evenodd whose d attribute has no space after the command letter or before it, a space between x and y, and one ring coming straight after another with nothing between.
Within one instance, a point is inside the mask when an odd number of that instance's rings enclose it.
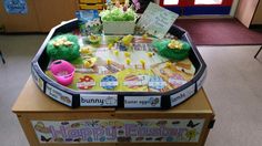
<instances>
[{"instance_id":1,"label":"green fluffy nest with yellow chicks, above the pink bucket","mask_svg":"<svg viewBox=\"0 0 262 146\"><path fill-rule=\"evenodd\" d=\"M62 34L48 42L47 53L52 60L72 61L80 56L77 35Z\"/></svg>"}]
</instances>

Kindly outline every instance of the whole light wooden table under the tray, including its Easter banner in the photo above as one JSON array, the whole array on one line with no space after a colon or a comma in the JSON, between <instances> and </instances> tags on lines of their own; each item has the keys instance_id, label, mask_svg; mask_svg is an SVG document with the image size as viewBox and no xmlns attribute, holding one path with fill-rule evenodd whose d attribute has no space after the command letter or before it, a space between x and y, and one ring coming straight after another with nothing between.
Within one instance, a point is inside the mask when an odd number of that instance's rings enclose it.
<instances>
[{"instance_id":1,"label":"whole light wooden table under the tray, including its Easter banner","mask_svg":"<svg viewBox=\"0 0 262 146\"><path fill-rule=\"evenodd\" d=\"M32 77L12 111L32 146L87 143L202 146L214 123L214 112L202 88L187 102L167 111L70 108L44 95Z\"/></svg>"}]
</instances>

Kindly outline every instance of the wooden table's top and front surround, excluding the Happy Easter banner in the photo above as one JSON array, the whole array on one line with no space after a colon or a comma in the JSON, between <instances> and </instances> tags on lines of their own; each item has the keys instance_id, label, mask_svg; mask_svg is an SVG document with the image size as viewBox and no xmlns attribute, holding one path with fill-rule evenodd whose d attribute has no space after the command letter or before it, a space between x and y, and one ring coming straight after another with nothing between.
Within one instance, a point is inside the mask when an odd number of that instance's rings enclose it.
<instances>
[{"instance_id":1,"label":"wooden table's top and front surround, excluding the Happy Easter banner","mask_svg":"<svg viewBox=\"0 0 262 146\"><path fill-rule=\"evenodd\" d=\"M30 102L24 102L30 101ZM200 90L192 98L185 103L168 111L133 111L122 108L102 108L102 107L80 107L71 109L56 103L47 97L34 85L30 77L21 94L19 95L12 111L17 114L18 119L24 131L24 134L33 146L62 146L61 144L40 144L36 136L32 121L78 121L78 119L187 119L203 118L204 124L199 138L199 143L179 143L181 146L203 146L210 128L214 122L214 112L203 90ZM178 143L89 143L94 146L113 146L113 145L150 145L150 146L171 146ZM70 144L69 144L70 145ZM72 144L78 145L78 144ZM87 144L79 144L87 145Z\"/></svg>"}]
</instances>

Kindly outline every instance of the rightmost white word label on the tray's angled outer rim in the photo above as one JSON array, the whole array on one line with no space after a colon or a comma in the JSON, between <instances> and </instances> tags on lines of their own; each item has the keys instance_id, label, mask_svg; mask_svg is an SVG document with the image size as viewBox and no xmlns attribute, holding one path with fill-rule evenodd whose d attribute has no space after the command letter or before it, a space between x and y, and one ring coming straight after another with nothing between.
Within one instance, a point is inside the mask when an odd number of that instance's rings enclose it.
<instances>
[{"instance_id":1,"label":"rightmost white word label on the tray's angled outer rim","mask_svg":"<svg viewBox=\"0 0 262 146\"><path fill-rule=\"evenodd\" d=\"M171 106L178 105L194 94L195 84L170 96Z\"/></svg>"}]
</instances>

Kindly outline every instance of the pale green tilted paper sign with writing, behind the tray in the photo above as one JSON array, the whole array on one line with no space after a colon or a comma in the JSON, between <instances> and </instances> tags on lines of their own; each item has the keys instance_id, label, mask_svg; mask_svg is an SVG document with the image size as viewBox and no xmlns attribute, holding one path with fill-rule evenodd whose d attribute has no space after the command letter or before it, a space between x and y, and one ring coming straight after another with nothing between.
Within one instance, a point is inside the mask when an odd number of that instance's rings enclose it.
<instances>
[{"instance_id":1,"label":"pale green tilted paper sign with writing, behind the tray","mask_svg":"<svg viewBox=\"0 0 262 146\"><path fill-rule=\"evenodd\" d=\"M150 2L138 25L159 39L164 38L179 14Z\"/></svg>"}]
</instances>

